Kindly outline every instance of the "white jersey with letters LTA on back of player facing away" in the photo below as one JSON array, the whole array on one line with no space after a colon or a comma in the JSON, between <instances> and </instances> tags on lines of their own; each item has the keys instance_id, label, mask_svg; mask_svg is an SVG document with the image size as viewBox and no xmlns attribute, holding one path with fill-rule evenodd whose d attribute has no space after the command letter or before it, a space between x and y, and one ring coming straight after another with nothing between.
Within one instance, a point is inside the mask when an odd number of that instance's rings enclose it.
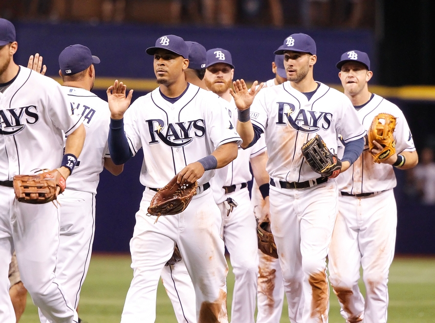
<instances>
[{"instance_id":1,"label":"white jersey with letters LTA on back of player facing away","mask_svg":"<svg viewBox=\"0 0 435 323\"><path fill-rule=\"evenodd\" d=\"M81 115L86 129L78 165L67 179L67 187L97 193L104 157L110 157L107 146L110 124L108 104L88 90L62 87L62 91L71 101L71 114Z\"/></svg>"}]
</instances>

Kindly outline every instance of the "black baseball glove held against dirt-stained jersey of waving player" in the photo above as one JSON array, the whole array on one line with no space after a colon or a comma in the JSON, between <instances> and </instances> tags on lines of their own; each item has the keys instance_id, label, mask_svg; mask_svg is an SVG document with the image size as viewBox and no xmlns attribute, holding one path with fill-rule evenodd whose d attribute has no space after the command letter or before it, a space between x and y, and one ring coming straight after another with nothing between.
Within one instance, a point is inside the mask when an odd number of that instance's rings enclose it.
<instances>
[{"instance_id":1,"label":"black baseball glove held against dirt-stained jersey of waving player","mask_svg":"<svg viewBox=\"0 0 435 323\"><path fill-rule=\"evenodd\" d=\"M340 174L341 160L330 152L319 135L307 141L301 149L311 169L322 177L334 178Z\"/></svg>"}]
</instances>

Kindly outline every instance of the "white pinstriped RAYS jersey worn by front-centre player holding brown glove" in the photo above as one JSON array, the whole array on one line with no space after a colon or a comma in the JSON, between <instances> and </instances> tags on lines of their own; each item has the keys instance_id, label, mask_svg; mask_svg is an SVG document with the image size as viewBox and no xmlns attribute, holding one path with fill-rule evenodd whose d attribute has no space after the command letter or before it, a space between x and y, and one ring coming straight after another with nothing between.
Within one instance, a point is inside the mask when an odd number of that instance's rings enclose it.
<instances>
[{"instance_id":1,"label":"white pinstriped RAYS jersey worn by front-centre player holding brown glove","mask_svg":"<svg viewBox=\"0 0 435 323\"><path fill-rule=\"evenodd\" d=\"M242 141L216 95L193 84L175 103L165 100L159 88L138 98L124 123L133 154L143 147L140 182L147 187L163 187L187 164L222 144ZM198 184L213 175L214 170L206 171Z\"/></svg>"}]
</instances>

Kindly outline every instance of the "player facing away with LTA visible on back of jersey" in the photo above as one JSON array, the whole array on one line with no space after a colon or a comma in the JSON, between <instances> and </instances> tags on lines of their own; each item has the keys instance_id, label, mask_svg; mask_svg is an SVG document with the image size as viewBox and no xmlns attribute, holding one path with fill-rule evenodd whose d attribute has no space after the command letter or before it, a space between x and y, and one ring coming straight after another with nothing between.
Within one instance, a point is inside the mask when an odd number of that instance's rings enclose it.
<instances>
[{"instance_id":1,"label":"player facing away with LTA visible on back of jersey","mask_svg":"<svg viewBox=\"0 0 435 323\"><path fill-rule=\"evenodd\" d=\"M88 47L80 44L65 48L59 55L62 91L71 102L71 115L81 115L86 128L81 157L74 174L68 178L68 188L58 197L60 245L56 275L75 309L91 260L99 174L103 167L113 175L119 175L123 170L123 165L115 165L108 154L110 110L107 102L91 92L95 80L94 64L99 62L100 59L93 56ZM29 59L29 67L35 67L36 71L40 71L41 63L38 54ZM44 74L45 70L41 73ZM39 316L41 322L47 320L42 313Z\"/></svg>"}]
</instances>

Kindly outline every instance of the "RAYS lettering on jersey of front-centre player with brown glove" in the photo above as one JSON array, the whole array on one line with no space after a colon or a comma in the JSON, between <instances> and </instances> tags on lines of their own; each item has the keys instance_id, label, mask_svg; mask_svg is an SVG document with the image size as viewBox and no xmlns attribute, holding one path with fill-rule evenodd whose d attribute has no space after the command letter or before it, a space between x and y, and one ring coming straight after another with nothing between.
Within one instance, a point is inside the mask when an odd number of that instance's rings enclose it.
<instances>
[{"instance_id":1,"label":"RAYS lettering on jersey of front-centre player with brown glove","mask_svg":"<svg viewBox=\"0 0 435 323\"><path fill-rule=\"evenodd\" d=\"M167 126L160 119L145 120L148 124L149 144L159 143L159 139L168 146L182 147L197 138L204 137L205 123L203 119L187 122L169 123Z\"/></svg>"}]
</instances>

